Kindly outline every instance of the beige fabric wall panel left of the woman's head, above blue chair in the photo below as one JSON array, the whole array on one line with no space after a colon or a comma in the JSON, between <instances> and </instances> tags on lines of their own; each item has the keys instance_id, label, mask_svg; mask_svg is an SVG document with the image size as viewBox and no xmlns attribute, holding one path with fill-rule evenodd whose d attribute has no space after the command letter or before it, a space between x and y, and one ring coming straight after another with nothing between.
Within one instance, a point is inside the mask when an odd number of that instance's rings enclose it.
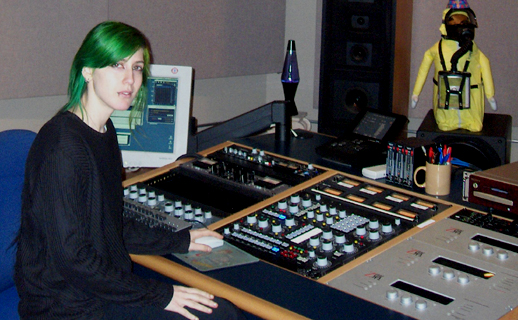
<instances>
[{"instance_id":1,"label":"beige fabric wall panel left of the woman's head, above blue chair","mask_svg":"<svg viewBox=\"0 0 518 320\"><path fill-rule=\"evenodd\" d=\"M108 18L107 7L107 0L2 1L0 99L66 94L72 59L88 30Z\"/></svg>"}]
</instances>

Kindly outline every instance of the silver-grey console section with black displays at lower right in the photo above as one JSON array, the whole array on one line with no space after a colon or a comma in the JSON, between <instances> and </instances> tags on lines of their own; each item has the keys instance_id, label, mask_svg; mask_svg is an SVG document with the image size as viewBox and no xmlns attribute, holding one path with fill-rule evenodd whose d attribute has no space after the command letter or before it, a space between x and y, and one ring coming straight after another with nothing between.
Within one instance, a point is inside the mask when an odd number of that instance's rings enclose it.
<instances>
[{"instance_id":1,"label":"silver-grey console section with black displays at lower right","mask_svg":"<svg viewBox=\"0 0 518 320\"><path fill-rule=\"evenodd\" d=\"M464 209L328 284L416 319L496 320L518 306L514 228Z\"/></svg>"}]
</instances>

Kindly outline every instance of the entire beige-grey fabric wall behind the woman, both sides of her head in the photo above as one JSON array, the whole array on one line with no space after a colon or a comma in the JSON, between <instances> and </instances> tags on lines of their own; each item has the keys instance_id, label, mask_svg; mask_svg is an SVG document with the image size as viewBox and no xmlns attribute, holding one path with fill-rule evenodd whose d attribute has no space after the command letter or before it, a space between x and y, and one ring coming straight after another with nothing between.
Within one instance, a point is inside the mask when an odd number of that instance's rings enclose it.
<instances>
[{"instance_id":1,"label":"entire beige-grey fabric wall behind the woman, both sides of her head","mask_svg":"<svg viewBox=\"0 0 518 320\"><path fill-rule=\"evenodd\" d=\"M142 30L154 62L196 79L280 72L284 0L1 0L0 100L66 94L82 39L104 20Z\"/></svg>"}]
</instances>

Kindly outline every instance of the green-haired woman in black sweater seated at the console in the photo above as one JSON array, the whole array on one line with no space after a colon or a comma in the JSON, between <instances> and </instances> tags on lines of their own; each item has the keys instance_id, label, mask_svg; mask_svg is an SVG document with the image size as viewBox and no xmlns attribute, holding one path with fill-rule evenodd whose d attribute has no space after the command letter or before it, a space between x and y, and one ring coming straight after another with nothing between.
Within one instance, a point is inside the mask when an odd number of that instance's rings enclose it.
<instances>
[{"instance_id":1,"label":"green-haired woman in black sweater seated at the console","mask_svg":"<svg viewBox=\"0 0 518 320\"><path fill-rule=\"evenodd\" d=\"M26 164L15 266L22 319L241 317L226 300L131 272L128 252L208 252L194 240L221 238L122 217L122 161L110 115L132 104L141 112L149 63L143 34L119 22L92 29L74 58L69 102L41 128Z\"/></svg>"}]
</instances>

